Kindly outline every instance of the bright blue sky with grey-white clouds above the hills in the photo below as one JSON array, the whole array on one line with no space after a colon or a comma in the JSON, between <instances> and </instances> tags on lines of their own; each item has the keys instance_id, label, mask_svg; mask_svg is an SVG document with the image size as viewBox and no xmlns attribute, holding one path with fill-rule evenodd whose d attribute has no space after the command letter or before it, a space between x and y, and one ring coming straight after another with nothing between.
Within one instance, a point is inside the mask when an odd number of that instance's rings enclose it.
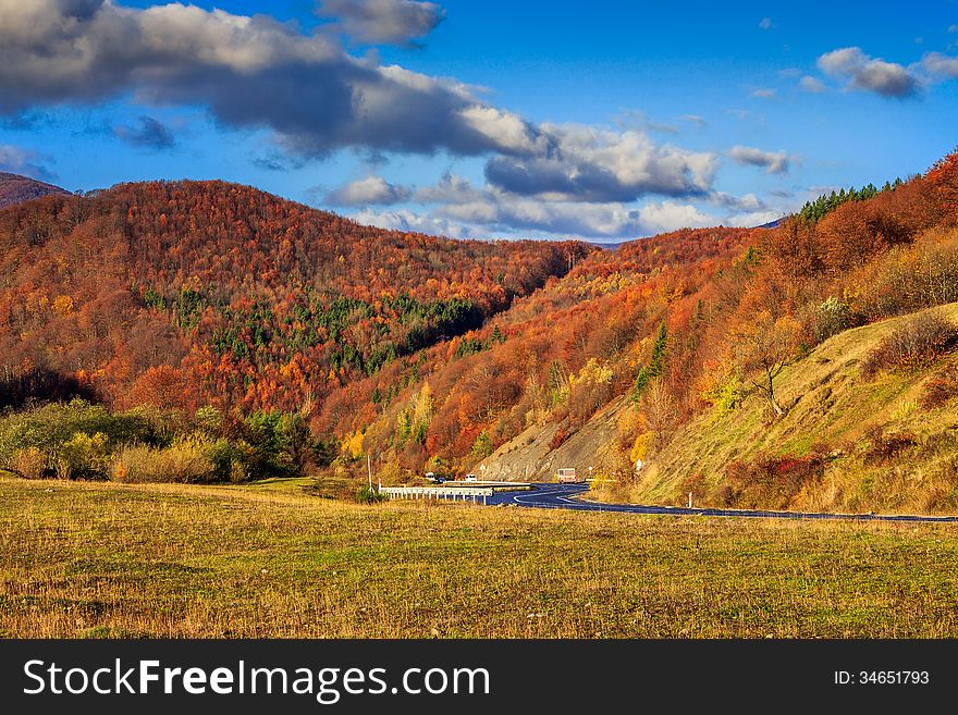
<instances>
[{"instance_id":1,"label":"bright blue sky with grey-white clouds above the hills","mask_svg":"<svg viewBox=\"0 0 958 715\"><path fill-rule=\"evenodd\" d=\"M614 241L922 172L956 116L951 0L0 0L0 170L70 189Z\"/></svg>"}]
</instances>

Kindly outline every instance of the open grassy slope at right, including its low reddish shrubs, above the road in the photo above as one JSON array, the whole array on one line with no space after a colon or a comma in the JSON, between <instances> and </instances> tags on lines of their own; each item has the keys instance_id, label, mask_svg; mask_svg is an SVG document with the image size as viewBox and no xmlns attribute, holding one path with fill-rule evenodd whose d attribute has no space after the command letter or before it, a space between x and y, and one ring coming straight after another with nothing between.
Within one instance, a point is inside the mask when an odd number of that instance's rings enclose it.
<instances>
[{"instance_id":1,"label":"open grassy slope at right, including its low reddish shrubs, above the road","mask_svg":"<svg viewBox=\"0 0 958 715\"><path fill-rule=\"evenodd\" d=\"M958 304L929 311L958 321ZM924 312L929 312L924 311ZM914 315L836 335L782 373L784 417L758 396L683 426L641 474L630 498L826 511L958 510L958 392L951 356L920 369L863 374L880 343Z\"/></svg>"}]
</instances>

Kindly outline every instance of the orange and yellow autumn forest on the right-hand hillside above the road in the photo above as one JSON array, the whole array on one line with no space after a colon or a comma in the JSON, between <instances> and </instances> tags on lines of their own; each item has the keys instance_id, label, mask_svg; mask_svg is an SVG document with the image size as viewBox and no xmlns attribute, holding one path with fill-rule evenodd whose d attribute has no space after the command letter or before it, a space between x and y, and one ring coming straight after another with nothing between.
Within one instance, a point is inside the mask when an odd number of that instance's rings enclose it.
<instances>
[{"instance_id":1,"label":"orange and yellow autumn forest on the right-hand hillside above the road","mask_svg":"<svg viewBox=\"0 0 958 715\"><path fill-rule=\"evenodd\" d=\"M494 324L426 352L396 398L363 381L316 424L339 430L346 458L382 455L398 477L475 470L495 453L499 476L549 479L518 458L520 441L548 433L557 449L624 398L613 429L590 431L588 466L632 481L636 459L654 464L699 416L783 419L782 371L830 336L958 299L955 184L951 155L773 230L683 231L593 254Z\"/></svg>"}]
</instances>

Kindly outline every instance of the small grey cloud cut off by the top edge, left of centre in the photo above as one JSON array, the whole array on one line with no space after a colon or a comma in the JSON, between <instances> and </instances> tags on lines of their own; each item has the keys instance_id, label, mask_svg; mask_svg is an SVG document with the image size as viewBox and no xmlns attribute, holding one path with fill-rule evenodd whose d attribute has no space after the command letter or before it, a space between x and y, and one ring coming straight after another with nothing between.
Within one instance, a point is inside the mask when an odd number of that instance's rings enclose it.
<instances>
[{"instance_id":1,"label":"small grey cloud cut off by the top edge, left of centre","mask_svg":"<svg viewBox=\"0 0 958 715\"><path fill-rule=\"evenodd\" d=\"M369 45L409 45L445 17L434 2L413 0L322 0L317 14L335 17L353 39Z\"/></svg>"}]
</instances>

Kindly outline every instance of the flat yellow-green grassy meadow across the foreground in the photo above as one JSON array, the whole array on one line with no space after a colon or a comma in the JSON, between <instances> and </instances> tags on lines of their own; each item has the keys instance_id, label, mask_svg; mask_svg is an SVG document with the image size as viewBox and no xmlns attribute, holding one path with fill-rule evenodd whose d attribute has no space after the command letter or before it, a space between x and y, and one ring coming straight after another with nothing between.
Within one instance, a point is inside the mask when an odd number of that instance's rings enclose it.
<instances>
[{"instance_id":1,"label":"flat yellow-green grassy meadow across the foreground","mask_svg":"<svg viewBox=\"0 0 958 715\"><path fill-rule=\"evenodd\" d=\"M958 636L954 526L0 477L0 636Z\"/></svg>"}]
</instances>

